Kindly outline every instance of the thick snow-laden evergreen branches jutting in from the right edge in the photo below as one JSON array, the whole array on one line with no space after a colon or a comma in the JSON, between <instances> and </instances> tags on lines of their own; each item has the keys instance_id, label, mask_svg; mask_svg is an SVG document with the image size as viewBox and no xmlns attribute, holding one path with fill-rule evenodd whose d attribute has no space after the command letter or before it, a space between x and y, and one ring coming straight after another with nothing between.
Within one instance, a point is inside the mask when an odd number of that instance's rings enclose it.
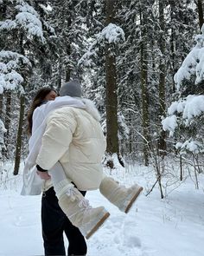
<instances>
[{"instance_id":1,"label":"thick snow-laden evergreen branches jutting in from the right edge","mask_svg":"<svg viewBox=\"0 0 204 256\"><path fill-rule=\"evenodd\" d=\"M180 150L181 154L204 153L204 26L201 33L195 36L196 45L175 74L175 83L180 92L183 82L194 79L194 84L201 86L201 93L180 97L176 102L172 102L168 108L168 116L162 121L163 129L168 130L170 136L175 135L175 148Z\"/></svg>"}]
</instances>

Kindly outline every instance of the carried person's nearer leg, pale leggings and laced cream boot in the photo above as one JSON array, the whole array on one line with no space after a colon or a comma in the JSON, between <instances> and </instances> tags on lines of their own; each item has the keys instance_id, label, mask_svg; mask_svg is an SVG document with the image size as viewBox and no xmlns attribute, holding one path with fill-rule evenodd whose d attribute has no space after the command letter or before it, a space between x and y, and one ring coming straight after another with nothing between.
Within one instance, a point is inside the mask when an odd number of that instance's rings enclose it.
<instances>
[{"instance_id":1,"label":"carried person's nearer leg, pale leggings and laced cream boot","mask_svg":"<svg viewBox=\"0 0 204 256\"><path fill-rule=\"evenodd\" d=\"M90 238L99 229L99 226L105 222L110 213L105 210L105 207L93 208L89 205L89 201L67 179L60 162L57 162L48 171L48 174L51 175L54 191L62 211L74 226L79 227L80 232L86 239ZM83 179L83 176L81 179Z\"/></svg>"}]
</instances>

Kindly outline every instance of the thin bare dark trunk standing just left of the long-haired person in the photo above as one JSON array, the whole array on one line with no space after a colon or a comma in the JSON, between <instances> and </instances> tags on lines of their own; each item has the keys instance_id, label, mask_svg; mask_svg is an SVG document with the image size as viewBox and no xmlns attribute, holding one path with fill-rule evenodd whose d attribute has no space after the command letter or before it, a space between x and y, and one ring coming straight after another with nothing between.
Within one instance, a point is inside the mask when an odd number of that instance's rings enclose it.
<instances>
[{"instance_id":1,"label":"thin bare dark trunk standing just left of the long-haired person","mask_svg":"<svg viewBox=\"0 0 204 256\"><path fill-rule=\"evenodd\" d=\"M16 140L16 157L15 157L15 166L14 166L14 173L13 173L14 175L18 174L19 167L20 167L20 162L21 162L24 109L25 109L25 96L21 95L21 98L20 98L20 116L19 116L17 140Z\"/></svg>"}]
</instances>

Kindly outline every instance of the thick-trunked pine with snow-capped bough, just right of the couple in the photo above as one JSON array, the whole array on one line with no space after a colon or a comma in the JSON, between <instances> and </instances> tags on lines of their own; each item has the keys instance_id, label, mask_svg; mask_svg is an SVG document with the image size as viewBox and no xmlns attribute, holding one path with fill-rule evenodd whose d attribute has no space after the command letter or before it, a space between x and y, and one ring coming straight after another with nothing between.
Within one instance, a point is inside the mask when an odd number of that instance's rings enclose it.
<instances>
[{"instance_id":1,"label":"thick-trunked pine with snow-capped bough, just right of the couple","mask_svg":"<svg viewBox=\"0 0 204 256\"><path fill-rule=\"evenodd\" d=\"M107 156L106 164L109 167L114 167L112 156L117 155L118 161L124 165L120 156L118 145L118 89L117 89L117 62L119 45L124 42L124 31L114 24L115 9L117 1L106 1L106 20L104 21L105 28L92 36L92 44L86 54L80 59L80 65L85 67L97 68L92 70L92 74L97 77L98 81L94 81L94 92L101 89L99 93L99 101L95 99L100 111L104 111L106 118L105 135L107 141ZM103 10L103 6L101 8ZM94 62L94 64L92 64ZM97 64L97 66L96 66ZM104 67L105 66L105 69ZM92 76L91 76L92 77ZM99 87L97 88L97 86ZM105 86L105 88L103 88ZM92 87L93 88L93 87ZM105 97L104 94L105 93ZM101 99L105 98L105 102ZM99 105L100 102L100 105Z\"/></svg>"}]
</instances>

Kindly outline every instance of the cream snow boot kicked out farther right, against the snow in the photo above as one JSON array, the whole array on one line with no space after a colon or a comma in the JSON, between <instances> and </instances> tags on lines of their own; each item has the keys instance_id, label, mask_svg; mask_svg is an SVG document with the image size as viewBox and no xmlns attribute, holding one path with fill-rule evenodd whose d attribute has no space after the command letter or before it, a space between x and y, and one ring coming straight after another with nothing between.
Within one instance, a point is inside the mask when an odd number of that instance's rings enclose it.
<instances>
[{"instance_id":1,"label":"cream snow boot kicked out farther right, against the snow","mask_svg":"<svg viewBox=\"0 0 204 256\"><path fill-rule=\"evenodd\" d=\"M100 193L110 200L120 211L128 213L138 195L143 191L143 187L137 184L126 188L120 186L117 181L110 177L105 177L99 187Z\"/></svg>"}]
</instances>

